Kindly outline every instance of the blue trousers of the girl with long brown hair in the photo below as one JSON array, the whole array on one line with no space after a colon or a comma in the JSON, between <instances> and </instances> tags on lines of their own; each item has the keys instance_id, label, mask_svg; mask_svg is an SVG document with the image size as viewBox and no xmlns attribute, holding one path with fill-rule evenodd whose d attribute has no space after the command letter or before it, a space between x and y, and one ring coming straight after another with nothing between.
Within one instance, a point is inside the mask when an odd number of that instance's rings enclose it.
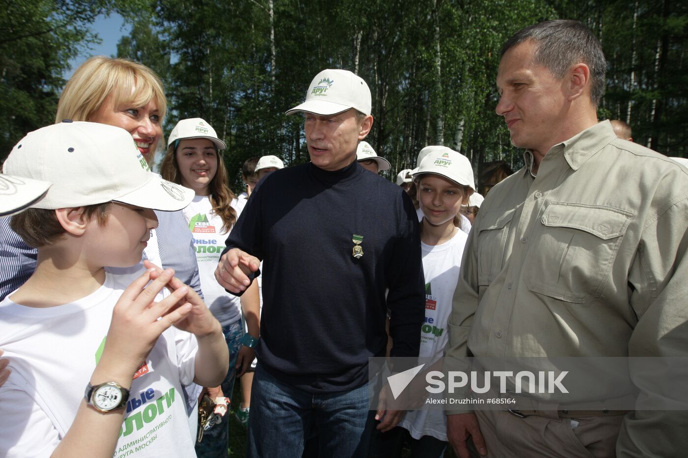
<instances>
[{"instance_id":1,"label":"blue trousers of the girl with long brown hair","mask_svg":"<svg viewBox=\"0 0 688 458\"><path fill-rule=\"evenodd\" d=\"M222 386L222 393L226 397L232 397L234 389L234 381L236 380L237 371L237 356L239 356L239 349L241 348L241 339L244 338L244 326L241 325L241 320L230 323L222 327L222 334L224 340L227 342L227 349L229 350L229 370L227 376L220 386ZM196 455L202 458L227 457L227 448L229 447L229 411L222 417L222 423L213 425L212 428L203 434L203 440L200 444L196 444ZM199 425L200 427L200 425Z\"/></svg>"}]
</instances>

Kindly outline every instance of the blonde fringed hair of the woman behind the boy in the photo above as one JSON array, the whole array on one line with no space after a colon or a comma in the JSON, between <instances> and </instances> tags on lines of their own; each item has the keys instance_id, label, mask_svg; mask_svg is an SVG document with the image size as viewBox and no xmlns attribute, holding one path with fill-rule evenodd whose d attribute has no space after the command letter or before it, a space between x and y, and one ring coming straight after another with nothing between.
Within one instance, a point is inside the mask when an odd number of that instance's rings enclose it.
<instances>
[{"instance_id":1,"label":"blonde fringed hair of the woman behind the boy","mask_svg":"<svg viewBox=\"0 0 688 458\"><path fill-rule=\"evenodd\" d=\"M67 81L57 104L55 122L88 121L109 96L114 98L115 106L130 102L143 107L155 99L160 119L165 116L167 101L162 81L153 70L128 59L93 56Z\"/></svg>"}]
</instances>

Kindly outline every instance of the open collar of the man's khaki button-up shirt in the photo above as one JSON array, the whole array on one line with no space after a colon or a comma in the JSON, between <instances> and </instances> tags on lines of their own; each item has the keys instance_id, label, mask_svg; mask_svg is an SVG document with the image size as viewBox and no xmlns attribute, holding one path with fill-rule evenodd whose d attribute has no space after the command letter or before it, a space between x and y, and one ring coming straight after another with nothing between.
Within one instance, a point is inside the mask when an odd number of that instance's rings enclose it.
<instances>
[{"instance_id":1,"label":"open collar of the man's khaki button-up shirt","mask_svg":"<svg viewBox=\"0 0 688 458\"><path fill-rule=\"evenodd\" d=\"M614 133L612 124L608 120L604 120L577 133L568 140L555 144L555 146L550 148L547 154L557 154L563 151L563 157L566 159L568 166L574 171L577 171L585 164L585 161L613 142L614 139L616 139L616 134ZM526 164L526 173L530 173L530 175L535 177L535 175L533 175L532 151L526 150L524 153L524 162Z\"/></svg>"}]
</instances>

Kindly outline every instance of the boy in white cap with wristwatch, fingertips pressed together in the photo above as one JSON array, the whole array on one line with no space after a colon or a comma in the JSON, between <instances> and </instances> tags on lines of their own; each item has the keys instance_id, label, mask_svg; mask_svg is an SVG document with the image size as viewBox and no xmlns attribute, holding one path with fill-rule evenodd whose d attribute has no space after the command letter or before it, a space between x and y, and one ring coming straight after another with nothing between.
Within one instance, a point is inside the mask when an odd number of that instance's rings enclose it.
<instances>
[{"instance_id":1,"label":"boy in white cap with wristwatch, fingertips pressed together","mask_svg":"<svg viewBox=\"0 0 688 458\"><path fill-rule=\"evenodd\" d=\"M11 221L38 265L0 303L12 369L0 387L2 455L193 455L180 390L224 377L221 327L171 270L104 268L138 263L153 209L180 210L193 192L151 173L131 135L106 124L29 133L4 168L52 186Z\"/></svg>"}]
</instances>

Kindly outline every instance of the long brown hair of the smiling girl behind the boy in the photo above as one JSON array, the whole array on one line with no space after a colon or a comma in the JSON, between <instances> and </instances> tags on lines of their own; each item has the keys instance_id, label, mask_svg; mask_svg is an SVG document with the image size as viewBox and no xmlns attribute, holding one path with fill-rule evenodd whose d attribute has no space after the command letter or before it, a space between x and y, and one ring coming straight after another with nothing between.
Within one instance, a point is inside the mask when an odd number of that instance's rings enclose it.
<instances>
[{"instance_id":1,"label":"long brown hair of the smiling girl behind the boy","mask_svg":"<svg viewBox=\"0 0 688 458\"><path fill-rule=\"evenodd\" d=\"M180 140L191 139L183 138ZM182 174L179 173L177 162L177 146L179 146L179 140L175 140L167 147L165 157L160 164L160 175L169 182L182 184ZM213 143L213 149L217 155L217 171L208 184L208 195L213 205L213 213L222 219L222 232L229 232L237 222L237 212L231 206L234 193L227 184L227 168L224 166L222 154L217 151L215 143Z\"/></svg>"}]
</instances>

